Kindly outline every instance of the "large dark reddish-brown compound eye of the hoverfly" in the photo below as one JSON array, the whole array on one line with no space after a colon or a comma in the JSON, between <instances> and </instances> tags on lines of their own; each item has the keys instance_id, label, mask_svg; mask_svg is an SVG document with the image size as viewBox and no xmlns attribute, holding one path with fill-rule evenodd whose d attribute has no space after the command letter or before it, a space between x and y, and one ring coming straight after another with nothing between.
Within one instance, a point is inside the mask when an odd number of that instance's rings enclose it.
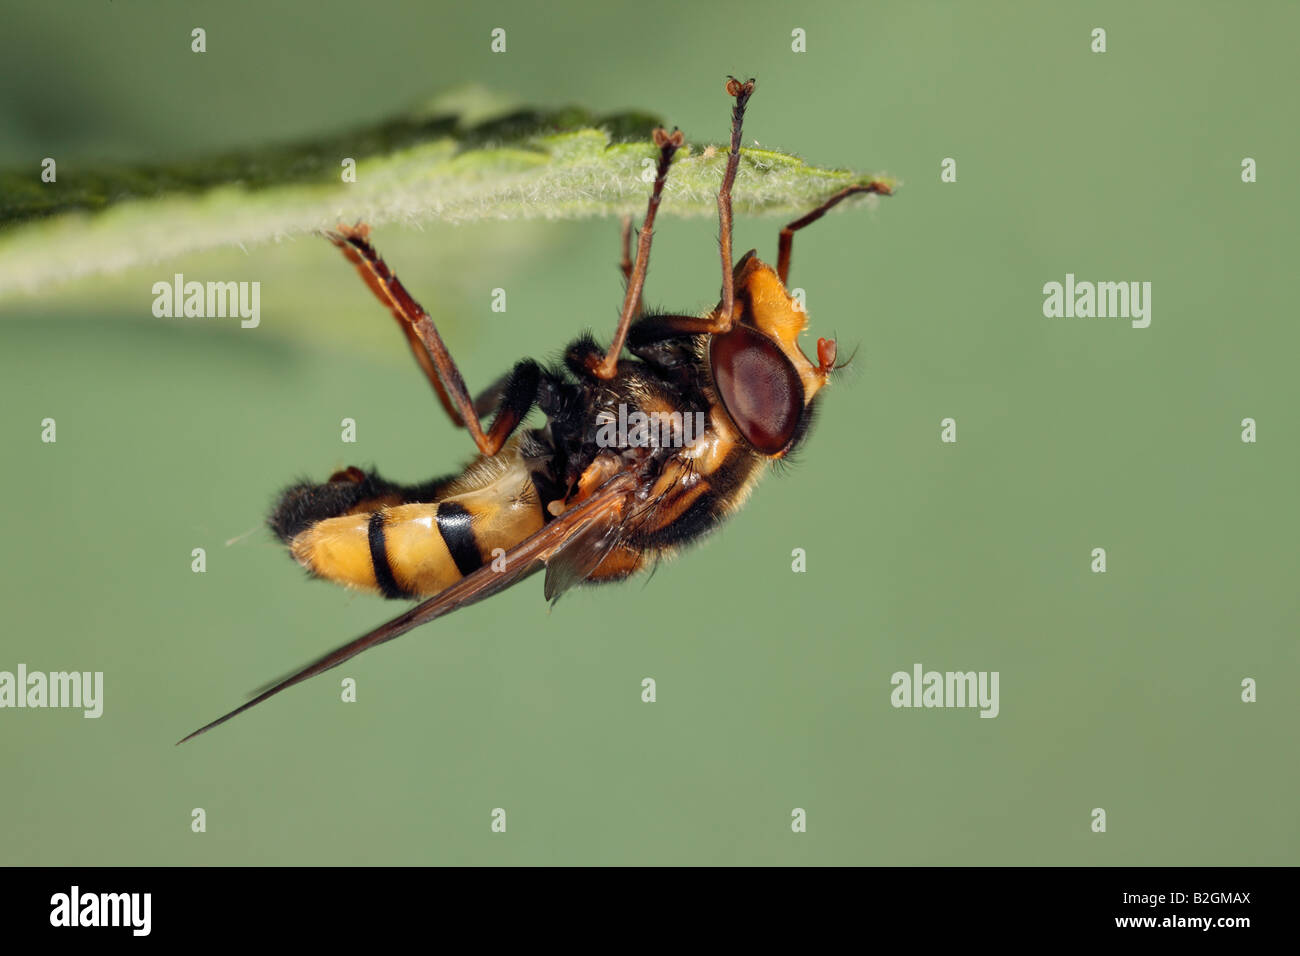
<instances>
[{"instance_id":1,"label":"large dark reddish-brown compound eye of the hoverfly","mask_svg":"<svg viewBox=\"0 0 1300 956\"><path fill-rule=\"evenodd\" d=\"M798 431L803 382L771 338L736 325L708 343L714 386L727 415L755 451L779 455Z\"/></svg>"}]
</instances>

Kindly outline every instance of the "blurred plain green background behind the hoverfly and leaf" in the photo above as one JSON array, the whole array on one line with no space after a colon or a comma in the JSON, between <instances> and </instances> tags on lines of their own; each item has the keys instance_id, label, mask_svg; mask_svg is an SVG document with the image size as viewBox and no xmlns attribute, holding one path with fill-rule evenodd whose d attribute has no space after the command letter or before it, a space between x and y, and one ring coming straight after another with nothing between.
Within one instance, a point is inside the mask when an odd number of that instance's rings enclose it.
<instances>
[{"instance_id":1,"label":"blurred plain green background behind the hoverfly and leaf","mask_svg":"<svg viewBox=\"0 0 1300 956\"><path fill-rule=\"evenodd\" d=\"M464 83L722 142L736 73L759 78L748 142L904 187L801 234L811 334L861 345L857 371L720 533L551 611L530 580L183 748L400 609L304 580L265 531L224 542L295 476L416 480L471 442L316 239L0 302L0 670L105 674L98 721L0 711L0 862L1297 862L1294 4L10 3L4 21L0 164L34 176L48 155L335 131ZM737 251L775 255L777 228L742 220ZM647 299L711 306L715 235L666 206ZM614 220L376 239L472 389L612 329ZM173 272L260 281L261 328L155 319ZM1150 281L1150 328L1045 319L1067 272ZM1000 671L1001 714L890 708L915 662Z\"/></svg>"}]
</instances>

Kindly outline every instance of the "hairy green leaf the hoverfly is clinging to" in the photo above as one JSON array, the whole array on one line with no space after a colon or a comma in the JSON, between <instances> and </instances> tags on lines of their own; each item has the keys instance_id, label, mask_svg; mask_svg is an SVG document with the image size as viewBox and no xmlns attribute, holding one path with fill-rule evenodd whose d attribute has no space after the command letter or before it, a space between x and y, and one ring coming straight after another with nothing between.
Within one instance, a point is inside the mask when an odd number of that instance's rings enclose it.
<instances>
[{"instance_id":1,"label":"hairy green leaf the hoverfly is clinging to","mask_svg":"<svg viewBox=\"0 0 1300 956\"><path fill-rule=\"evenodd\" d=\"M578 219L640 213L658 155L645 113L516 109L477 118L446 101L328 139L155 166L0 173L0 297L224 246L367 221ZM356 182L342 181L344 157ZM688 143L660 216L714 216L725 147ZM874 177L746 148L740 213L798 215ZM884 182L890 182L884 179Z\"/></svg>"}]
</instances>

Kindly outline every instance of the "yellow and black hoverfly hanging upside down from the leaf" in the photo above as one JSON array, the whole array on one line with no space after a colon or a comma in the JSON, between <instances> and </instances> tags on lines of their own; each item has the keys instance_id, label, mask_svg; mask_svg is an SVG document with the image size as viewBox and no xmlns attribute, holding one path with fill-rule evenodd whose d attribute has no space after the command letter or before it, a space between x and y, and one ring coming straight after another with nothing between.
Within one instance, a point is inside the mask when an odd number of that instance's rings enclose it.
<instances>
[{"instance_id":1,"label":"yellow and black hoverfly hanging upside down from the leaf","mask_svg":"<svg viewBox=\"0 0 1300 956\"><path fill-rule=\"evenodd\" d=\"M852 195L888 195L889 186L849 186L786 225L775 269L753 251L733 264L731 190L754 81L728 78L727 92L734 105L718 193L718 307L705 316L642 310L655 213L682 146L680 131L658 129L659 163L634 260L624 221L627 293L610 346L584 336L554 369L525 359L477 399L433 319L370 246L369 228L326 233L393 312L478 458L460 475L419 485L352 467L325 484L286 489L268 523L313 575L385 597L428 600L179 743L542 568L546 597L554 600L576 584L651 567L740 509L767 467L807 434L814 401L836 368L836 345L819 338L815 362L798 346L807 316L785 290L794 233ZM624 347L633 358L624 358ZM516 434L534 407L546 424ZM490 412L485 432L480 416Z\"/></svg>"}]
</instances>

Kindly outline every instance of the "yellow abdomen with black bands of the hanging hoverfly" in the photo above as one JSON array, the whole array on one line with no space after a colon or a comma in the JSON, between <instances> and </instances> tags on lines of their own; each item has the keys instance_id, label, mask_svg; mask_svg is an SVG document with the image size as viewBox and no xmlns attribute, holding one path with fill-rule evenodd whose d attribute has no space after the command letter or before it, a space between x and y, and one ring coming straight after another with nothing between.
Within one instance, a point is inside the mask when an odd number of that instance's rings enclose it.
<instances>
[{"instance_id":1,"label":"yellow abdomen with black bands of the hanging hoverfly","mask_svg":"<svg viewBox=\"0 0 1300 956\"><path fill-rule=\"evenodd\" d=\"M429 501L411 501L417 489L355 475L361 480L351 489L335 488L347 483L347 475L329 485L290 489L272 515L272 527L298 563L350 588L385 597L437 594L545 524L543 502L515 449L478 459L460 477L420 489ZM313 489L317 496L334 496L328 502L333 514L316 510L313 520L299 520L298 528L277 527L290 496L296 490L299 498L309 497Z\"/></svg>"}]
</instances>

